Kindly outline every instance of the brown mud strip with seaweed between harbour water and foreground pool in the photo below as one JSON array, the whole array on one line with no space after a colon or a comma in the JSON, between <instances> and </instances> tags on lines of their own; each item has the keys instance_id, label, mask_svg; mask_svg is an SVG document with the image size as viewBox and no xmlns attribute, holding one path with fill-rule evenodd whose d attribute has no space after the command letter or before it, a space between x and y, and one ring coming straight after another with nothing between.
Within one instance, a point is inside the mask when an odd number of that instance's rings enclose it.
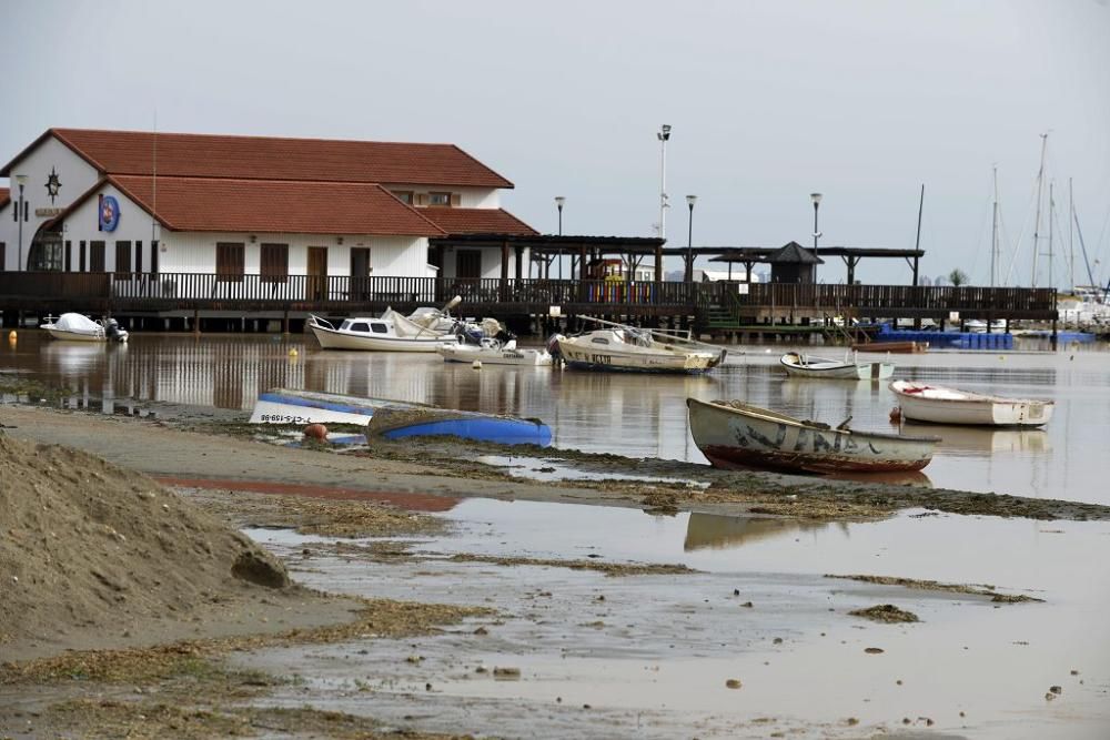
<instances>
[{"instance_id":1,"label":"brown mud strip with seaweed between harbour water and foreground pool","mask_svg":"<svg viewBox=\"0 0 1110 740\"><path fill-rule=\"evenodd\" d=\"M363 452L334 454L261 444L252 438L259 434L256 428L230 422L193 420L183 424L189 429L182 429L163 420L21 406L0 406L0 424L14 427L8 429L11 436L83 449L182 485L196 480L213 485L304 484L380 497L483 496L818 519L878 517L905 508L926 508L966 515L1110 520L1110 506L1098 504L724 472L673 460L526 446L507 449L450 440L377 442ZM529 480L475 462L481 453L558 460L585 475L565 481Z\"/></svg>"}]
</instances>

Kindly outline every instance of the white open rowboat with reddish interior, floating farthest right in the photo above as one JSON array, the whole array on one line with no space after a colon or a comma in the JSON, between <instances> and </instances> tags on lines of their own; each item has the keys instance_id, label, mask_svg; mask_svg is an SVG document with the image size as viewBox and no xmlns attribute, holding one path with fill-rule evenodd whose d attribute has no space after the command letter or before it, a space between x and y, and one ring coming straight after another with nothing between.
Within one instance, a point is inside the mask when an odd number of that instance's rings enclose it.
<instances>
[{"instance_id":1,"label":"white open rowboat with reddish interior, floating farthest right","mask_svg":"<svg viewBox=\"0 0 1110 740\"><path fill-rule=\"evenodd\" d=\"M1043 426L1052 418L1053 402L1006 398L940 385L895 381L901 416L934 424L980 426Z\"/></svg>"}]
</instances>

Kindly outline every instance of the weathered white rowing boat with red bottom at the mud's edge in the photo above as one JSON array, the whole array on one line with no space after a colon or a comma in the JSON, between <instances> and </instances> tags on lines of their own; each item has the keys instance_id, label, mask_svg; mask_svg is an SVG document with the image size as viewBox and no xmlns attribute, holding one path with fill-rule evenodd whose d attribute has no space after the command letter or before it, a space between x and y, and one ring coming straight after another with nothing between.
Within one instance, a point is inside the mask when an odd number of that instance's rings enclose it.
<instances>
[{"instance_id":1,"label":"weathered white rowing boat with red bottom at the mud's edge","mask_svg":"<svg viewBox=\"0 0 1110 740\"><path fill-rule=\"evenodd\" d=\"M796 419L739 401L687 398L690 434L714 467L803 473L920 470L940 437L859 432Z\"/></svg>"}]
</instances>

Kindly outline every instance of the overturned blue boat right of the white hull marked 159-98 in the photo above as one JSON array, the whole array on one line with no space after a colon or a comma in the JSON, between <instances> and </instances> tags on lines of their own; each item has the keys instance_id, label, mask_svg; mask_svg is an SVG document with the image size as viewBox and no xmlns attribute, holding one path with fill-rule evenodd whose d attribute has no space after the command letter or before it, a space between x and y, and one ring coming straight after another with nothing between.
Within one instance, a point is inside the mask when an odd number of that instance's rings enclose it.
<instances>
[{"instance_id":1,"label":"overturned blue boat right of the white hull marked 159-98","mask_svg":"<svg viewBox=\"0 0 1110 740\"><path fill-rule=\"evenodd\" d=\"M386 439L406 437L461 437L501 445L552 444L552 430L537 419L461 412L450 408L401 408L385 406L370 419L370 436Z\"/></svg>"}]
</instances>

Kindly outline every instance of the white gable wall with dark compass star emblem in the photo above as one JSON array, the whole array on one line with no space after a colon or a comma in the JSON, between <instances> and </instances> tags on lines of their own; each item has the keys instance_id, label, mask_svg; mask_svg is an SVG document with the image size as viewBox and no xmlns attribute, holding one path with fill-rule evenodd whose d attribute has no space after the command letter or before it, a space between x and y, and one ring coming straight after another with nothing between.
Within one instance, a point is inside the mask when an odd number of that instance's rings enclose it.
<instances>
[{"instance_id":1,"label":"white gable wall with dark compass star emblem","mask_svg":"<svg viewBox=\"0 0 1110 740\"><path fill-rule=\"evenodd\" d=\"M47 179L53 170L58 173L61 189L54 202L50 202L47 193ZM95 168L73 153L73 150L61 143L53 136L49 136L37 148L28 152L22 159L17 161L11 168L11 199L12 203L3 209L3 219L0 219L0 242L7 244L4 270L19 270L19 222L12 219L12 211L19 201L19 184L16 175L27 175L27 183L23 185L23 200L29 204L29 216L23 222L23 266L27 265L27 255L30 251L31 240L43 223L57 215L57 210L68 207L79 195L84 194L90 187L97 184L100 174ZM47 213L37 215L49 209Z\"/></svg>"}]
</instances>

